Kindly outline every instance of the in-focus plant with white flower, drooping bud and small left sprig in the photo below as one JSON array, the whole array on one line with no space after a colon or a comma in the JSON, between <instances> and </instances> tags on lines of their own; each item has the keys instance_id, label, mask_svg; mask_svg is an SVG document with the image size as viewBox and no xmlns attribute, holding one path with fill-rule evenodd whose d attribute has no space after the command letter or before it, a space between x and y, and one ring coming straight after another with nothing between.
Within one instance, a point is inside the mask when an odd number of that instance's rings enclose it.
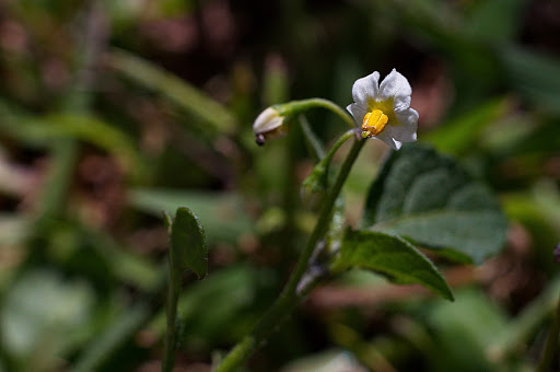
<instances>
[{"instance_id":1,"label":"in-focus plant with white flower, drooping bud and small left sprig","mask_svg":"<svg viewBox=\"0 0 560 372\"><path fill-rule=\"evenodd\" d=\"M332 102L311 98L275 105L255 120L256 142L260 146L296 124L315 144L312 148L318 162L303 182L302 196L318 207L318 218L282 292L254 328L218 361L214 371L237 370L317 284L337 274L368 269L395 283L421 284L453 300L444 277L419 247L475 264L502 247L506 221L494 196L451 158L419 144L402 147L402 142L417 140L418 113L410 107L410 84L396 70L381 84L378 80L375 71L353 84L354 103L347 108L351 116ZM316 107L334 112L350 127L327 151L303 117ZM370 187L360 225L346 226L340 191L370 138L384 141L393 150ZM352 146L336 173L334 154L349 140ZM167 221L172 231L171 270L175 274L170 276L166 357L174 345L176 270L187 267L199 277L206 274L203 233L194 214L178 210L175 220ZM178 223L188 225L192 242L177 230ZM183 248L186 253L178 253ZM188 259L180 258L177 266L177 257ZM167 357L164 370L170 371L172 364Z\"/></svg>"}]
</instances>

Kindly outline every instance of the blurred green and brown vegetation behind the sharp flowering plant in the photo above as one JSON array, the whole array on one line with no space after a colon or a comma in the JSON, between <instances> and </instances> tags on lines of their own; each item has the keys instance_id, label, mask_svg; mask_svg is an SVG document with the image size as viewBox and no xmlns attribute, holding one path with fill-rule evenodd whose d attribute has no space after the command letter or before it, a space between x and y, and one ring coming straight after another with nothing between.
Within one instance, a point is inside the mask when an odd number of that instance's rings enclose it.
<instances>
[{"instance_id":1,"label":"blurred green and brown vegetation behind the sharp flowering plant","mask_svg":"<svg viewBox=\"0 0 560 372\"><path fill-rule=\"evenodd\" d=\"M500 196L503 252L438 266L455 302L350 271L315 290L247 371L525 371L560 293L560 3L555 0L0 1L0 371L158 371L168 237L205 225L178 371L209 371L277 295L314 214L301 135L254 144L268 105L345 106L396 68L419 140ZM324 141L342 131L310 115ZM358 222L386 151L345 188ZM436 190L434 190L436 191ZM558 369L558 361L556 361Z\"/></svg>"}]
</instances>

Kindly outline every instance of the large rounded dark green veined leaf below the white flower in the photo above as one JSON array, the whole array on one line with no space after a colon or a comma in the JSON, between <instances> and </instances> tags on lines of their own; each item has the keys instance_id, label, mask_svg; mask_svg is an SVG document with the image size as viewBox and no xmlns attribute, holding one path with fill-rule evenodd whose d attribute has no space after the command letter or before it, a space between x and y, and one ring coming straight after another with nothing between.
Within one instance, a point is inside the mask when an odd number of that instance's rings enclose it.
<instances>
[{"instance_id":1,"label":"large rounded dark green veined leaf below the white flower","mask_svg":"<svg viewBox=\"0 0 560 372\"><path fill-rule=\"evenodd\" d=\"M392 153L368 196L362 226L450 248L479 264L503 246L497 199L451 158L418 144Z\"/></svg>"}]
</instances>

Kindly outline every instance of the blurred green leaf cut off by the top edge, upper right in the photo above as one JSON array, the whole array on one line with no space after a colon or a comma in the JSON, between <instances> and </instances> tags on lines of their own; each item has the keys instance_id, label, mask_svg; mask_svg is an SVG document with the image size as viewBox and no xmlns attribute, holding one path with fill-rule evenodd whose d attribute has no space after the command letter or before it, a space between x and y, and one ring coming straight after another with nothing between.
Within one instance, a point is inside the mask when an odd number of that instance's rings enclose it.
<instances>
[{"instance_id":1,"label":"blurred green leaf cut off by the top edge, upper right","mask_svg":"<svg viewBox=\"0 0 560 372\"><path fill-rule=\"evenodd\" d=\"M477 1L468 14L466 32L481 42L508 43L516 36L525 0Z\"/></svg>"}]
</instances>

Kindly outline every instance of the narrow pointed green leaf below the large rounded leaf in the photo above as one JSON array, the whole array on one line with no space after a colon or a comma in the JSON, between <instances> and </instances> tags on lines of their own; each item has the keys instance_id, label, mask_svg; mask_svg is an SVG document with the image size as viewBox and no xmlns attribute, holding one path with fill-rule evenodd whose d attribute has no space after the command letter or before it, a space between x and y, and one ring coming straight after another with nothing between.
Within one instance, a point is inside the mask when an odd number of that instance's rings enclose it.
<instances>
[{"instance_id":1,"label":"narrow pointed green leaf below the large rounded leaf","mask_svg":"<svg viewBox=\"0 0 560 372\"><path fill-rule=\"evenodd\" d=\"M399 236L348 229L332 269L346 270L352 267L383 274L398 284L422 284L444 299L453 300L447 282L435 266Z\"/></svg>"}]
</instances>

